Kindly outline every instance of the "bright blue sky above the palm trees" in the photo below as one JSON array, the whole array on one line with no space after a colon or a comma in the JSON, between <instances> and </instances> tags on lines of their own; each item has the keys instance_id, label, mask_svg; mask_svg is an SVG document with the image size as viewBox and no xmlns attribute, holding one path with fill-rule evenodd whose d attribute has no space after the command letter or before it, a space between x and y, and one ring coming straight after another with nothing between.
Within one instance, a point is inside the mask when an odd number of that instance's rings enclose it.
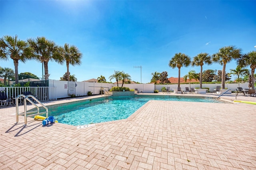
<instances>
[{"instance_id":1,"label":"bright blue sky above the palm trees","mask_svg":"<svg viewBox=\"0 0 256 170\"><path fill-rule=\"evenodd\" d=\"M82 64L70 66L78 81L114 74L130 74L133 81L150 82L152 72L178 77L168 63L175 53L191 59L235 45L243 53L256 50L256 1L123 1L123 0L0 0L0 37L46 37L57 45L68 43L82 52ZM14 69L12 59L0 66ZM226 65L226 72L236 62ZM66 65L48 64L50 79L60 80ZM222 70L218 63L203 70ZM200 67L182 67L181 76ZM19 62L18 72L42 77L38 61ZM112 80L114 82L114 80Z\"/></svg>"}]
</instances>

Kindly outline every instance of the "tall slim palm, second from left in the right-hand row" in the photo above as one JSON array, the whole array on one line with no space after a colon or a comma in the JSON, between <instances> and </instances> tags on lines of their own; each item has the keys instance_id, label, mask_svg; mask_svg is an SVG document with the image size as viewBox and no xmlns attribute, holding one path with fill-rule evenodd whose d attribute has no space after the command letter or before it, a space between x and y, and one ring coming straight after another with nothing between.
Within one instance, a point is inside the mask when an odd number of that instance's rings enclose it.
<instances>
[{"instance_id":1,"label":"tall slim palm, second from left in the right-hand row","mask_svg":"<svg viewBox=\"0 0 256 170\"><path fill-rule=\"evenodd\" d=\"M211 56L208 53L200 53L193 58L191 63L192 66L200 66L200 88L202 88L202 73L203 73L203 65L204 64L212 64Z\"/></svg>"}]
</instances>

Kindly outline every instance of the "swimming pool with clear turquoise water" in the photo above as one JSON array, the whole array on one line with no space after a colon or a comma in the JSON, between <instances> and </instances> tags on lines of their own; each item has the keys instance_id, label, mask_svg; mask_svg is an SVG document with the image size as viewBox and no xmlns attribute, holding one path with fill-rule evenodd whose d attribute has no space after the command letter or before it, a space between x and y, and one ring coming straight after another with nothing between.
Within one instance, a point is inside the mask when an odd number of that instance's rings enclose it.
<instances>
[{"instance_id":1,"label":"swimming pool with clear turquoise water","mask_svg":"<svg viewBox=\"0 0 256 170\"><path fill-rule=\"evenodd\" d=\"M59 123L81 126L126 119L149 100L212 102L212 98L183 98L180 96L103 97L68 104L48 106L48 116Z\"/></svg>"}]
</instances>

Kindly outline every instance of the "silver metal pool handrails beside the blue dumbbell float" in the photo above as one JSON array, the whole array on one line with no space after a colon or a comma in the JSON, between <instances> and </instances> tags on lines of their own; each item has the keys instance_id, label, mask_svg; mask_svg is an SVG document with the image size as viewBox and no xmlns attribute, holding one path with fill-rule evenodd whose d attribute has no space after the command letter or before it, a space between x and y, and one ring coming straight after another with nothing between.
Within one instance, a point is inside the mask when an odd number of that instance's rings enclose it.
<instances>
[{"instance_id":1,"label":"silver metal pool handrails beside the blue dumbbell float","mask_svg":"<svg viewBox=\"0 0 256 170\"><path fill-rule=\"evenodd\" d=\"M19 106L18 106L18 99L19 98L23 98L23 102L24 102L24 112L23 113L19 113ZM39 111L39 107L29 98L32 98L35 102L37 102L38 104L40 104L42 107L44 107L44 109L46 109L46 111L40 112ZM32 105L34 105L37 110L36 111L27 111L27 101L30 102ZM46 117L48 117L48 108L46 106L44 106L44 104L42 104L35 96L33 95L28 95L25 96L24 94L20 94L16 97L16 123L19 122L19 115L24 115L24 119L25 119L25 125L27 125L27 117L33 117L35 115L41 115L41 114L45 114L46 113ZM28 115L29 114L29 115Z\"/></svg>"}]
</instances>

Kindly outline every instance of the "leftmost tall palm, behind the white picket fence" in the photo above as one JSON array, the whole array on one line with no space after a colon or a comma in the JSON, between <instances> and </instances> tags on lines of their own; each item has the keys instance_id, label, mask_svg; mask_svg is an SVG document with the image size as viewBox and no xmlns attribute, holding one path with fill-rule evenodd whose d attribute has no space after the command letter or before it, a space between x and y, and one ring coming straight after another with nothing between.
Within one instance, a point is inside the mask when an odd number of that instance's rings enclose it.
<instances>
[{"instance_id":1,"label":"leftmost tall palm, behind the white picket fence","mask_svg":"<svg viewBox=\"0 0 256 170\"><path fill-rule=\"evenodd\" d=\"M19 83L18 64L19 61L25 63L27 60L33 59L32 48L28 42L18 39L18 36L4 36L0 39L0 59L8 60L11 58L14 62L15 84Z\"/></svg>"}]
</instances>

